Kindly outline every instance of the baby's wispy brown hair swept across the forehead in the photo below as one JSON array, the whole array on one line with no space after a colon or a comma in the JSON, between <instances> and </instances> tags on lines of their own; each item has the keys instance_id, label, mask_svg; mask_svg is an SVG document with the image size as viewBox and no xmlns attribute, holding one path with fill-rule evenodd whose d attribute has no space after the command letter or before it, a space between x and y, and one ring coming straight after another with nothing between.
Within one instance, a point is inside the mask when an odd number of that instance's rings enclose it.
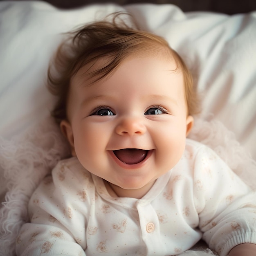
<instances>
[{"instance_id":1,"label":"baby's wispy brown hair swept across the forehead","mask_svg":"<svg viewBox=\"0 0 256 256\"><path fill-rule=\"evenodd\" d=\"M48 88L57 96L52 110L57 123L67 119L70 80L81 67L88 64L92 66L99 59L107 58L106 65L92 71L88 68L88 76L96 82L111 74L131 54L157 55L159 52L163 52L162 56L172 56L175 59L176 70L181 70L184 76L188 114L198 113L198 97L193 88L193 79L182 58L169 47L164 38L133 29L119 20L119 17L120 13L115 13L111 22L93 22L72 31L58 47L54 63L48 68Z\"/></svg>"}]
</instances>

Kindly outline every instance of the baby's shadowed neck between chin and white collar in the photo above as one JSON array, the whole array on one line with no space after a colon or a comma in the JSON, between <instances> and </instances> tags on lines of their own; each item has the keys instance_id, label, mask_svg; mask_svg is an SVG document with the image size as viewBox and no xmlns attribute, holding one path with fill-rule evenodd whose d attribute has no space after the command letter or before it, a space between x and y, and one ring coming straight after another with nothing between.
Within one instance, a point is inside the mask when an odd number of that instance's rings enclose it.
<instances>
[{"instance_id":1,"label":"baby's shadowed neck between chin and white collar","mask_svg":"<svg viewBox=\"0 0 256 256\"><path fill-rule=\"evenodd\" d=\"M155 181L146 184L146 186L142 187L141 189L122 189L119 186L116 186L112 183L109 183L105 180L106 189L108 193L112 197L119 197L119 198L137 198L141 199L148 193L148 191L152 188Z\"/></svg>"}]
</instances>

